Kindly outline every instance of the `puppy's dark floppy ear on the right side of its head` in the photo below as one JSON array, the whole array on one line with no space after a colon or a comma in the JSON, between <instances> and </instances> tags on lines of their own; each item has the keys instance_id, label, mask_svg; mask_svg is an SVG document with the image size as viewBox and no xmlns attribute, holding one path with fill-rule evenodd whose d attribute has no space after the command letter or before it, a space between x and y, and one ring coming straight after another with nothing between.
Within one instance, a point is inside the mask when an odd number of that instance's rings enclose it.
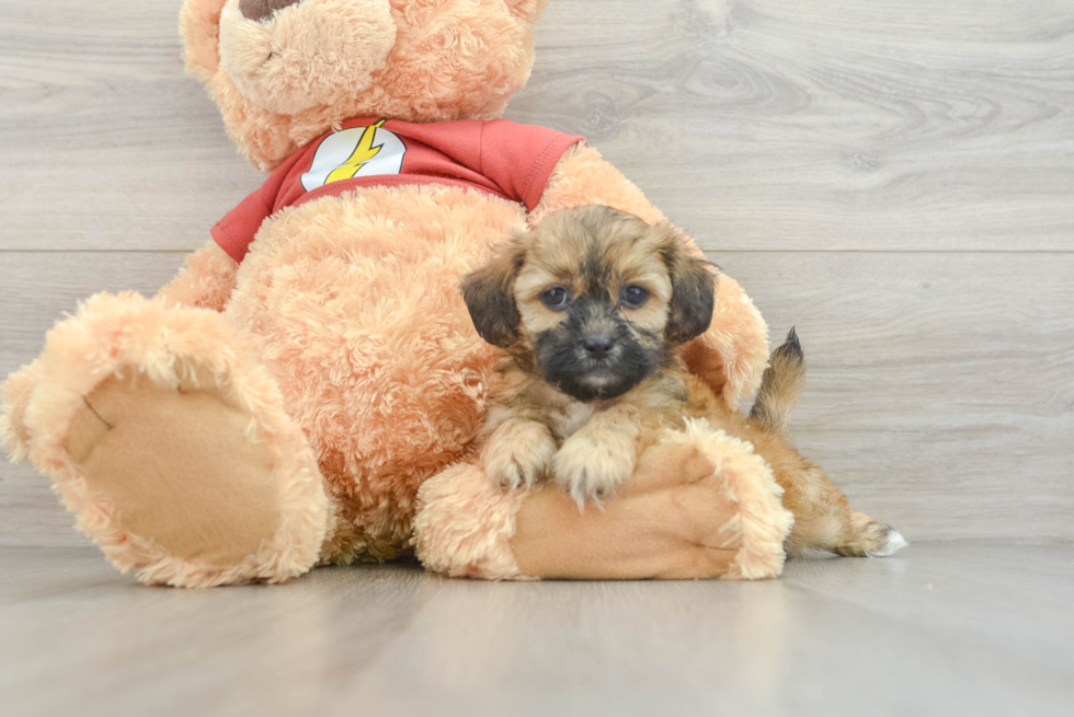
<instances>
[{"instance_id":1,"label":"puppy's dark floppy ear on the right side of its head","mask_svg":"<svg viewBox=\"0 0 1074 717\"><path fill-rule=\"evenodd\" d=\"M716 305L716 273L712 265L690 253L686 236L666 222L653 227L662 232L661 254L672 281L667 307L667 340L685 344L704 334L712 323Z\"/></svg>"}]
</instances>

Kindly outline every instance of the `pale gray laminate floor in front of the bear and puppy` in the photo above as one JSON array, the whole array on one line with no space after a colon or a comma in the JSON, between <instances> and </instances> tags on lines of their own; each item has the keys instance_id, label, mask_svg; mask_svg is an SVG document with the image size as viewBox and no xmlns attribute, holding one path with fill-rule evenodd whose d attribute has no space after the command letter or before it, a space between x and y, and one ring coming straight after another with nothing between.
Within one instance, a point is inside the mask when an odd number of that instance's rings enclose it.
<instances>
[{"instance_id":1,"label":"pale gray laminate floor in front of the bear and puppy","mask_svg":"<svg viewBox=\"0 0 1074 717\"><path fill-rule=\"evenodd\" d=\"M1074 544L923 543L761 583L325 568L138 587L0 548L0 714L1070 715Z\"/></svg>"}]
</instances>

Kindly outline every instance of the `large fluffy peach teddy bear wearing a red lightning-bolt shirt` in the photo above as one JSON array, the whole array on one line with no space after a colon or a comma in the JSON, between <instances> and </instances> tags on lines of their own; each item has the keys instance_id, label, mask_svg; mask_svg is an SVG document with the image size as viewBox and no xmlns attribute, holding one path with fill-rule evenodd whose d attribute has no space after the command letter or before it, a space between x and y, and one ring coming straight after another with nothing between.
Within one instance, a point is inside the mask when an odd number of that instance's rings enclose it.
<instances>
[{"instance_id":1,"label":"large fluffy peach teddy bear wearing a red lightning-bolt shirt","mask_svg":"<svg viewBox=\"0 0 1074 717\"><path fill-rule=\"evenodd\" d=\"M408 555L452 576L766 578L792 522L693 427L597 509L467 462L495 354L461 276L558 209L663 219L584 138L501 117L542 0L186 0L187 70L268 176L153 298L100 293L3 384L0 437L149 585ZM767 328L719 276L690 370L738 405Z\"/></svg>"}]
</instances>

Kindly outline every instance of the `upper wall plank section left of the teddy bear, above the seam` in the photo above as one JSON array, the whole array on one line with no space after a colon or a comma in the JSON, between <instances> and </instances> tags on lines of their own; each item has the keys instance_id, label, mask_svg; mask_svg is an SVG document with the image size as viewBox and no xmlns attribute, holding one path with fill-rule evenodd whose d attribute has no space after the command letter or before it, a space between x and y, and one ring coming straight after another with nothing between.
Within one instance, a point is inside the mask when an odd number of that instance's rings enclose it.
<instances>
[{"instance_id":1,"label":"upper wall plank section left of the teddy bear, above the seam","mask_svg":"<svg viewBox=\"0 0 1074 717\"><path fill-rule=\"evenodd\" d=\"M0 250L192 250L264 181L186 78L178 0L0 0Z\"/></svg>"}]
</instances>

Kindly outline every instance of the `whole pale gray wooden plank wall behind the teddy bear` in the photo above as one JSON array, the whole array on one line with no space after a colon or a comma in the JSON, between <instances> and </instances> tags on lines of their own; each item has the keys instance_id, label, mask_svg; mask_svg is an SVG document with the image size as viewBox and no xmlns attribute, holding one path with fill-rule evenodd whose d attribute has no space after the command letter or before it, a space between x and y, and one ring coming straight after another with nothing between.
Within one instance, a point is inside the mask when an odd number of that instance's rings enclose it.
<instances>
[{"instance_id":1,"label":"whole pale gray wooden plank wall behind the teddy bear","mask_svg":"<svg viewBox=\"0 0 1074 717\"><path fill-rule=\"evenodd\" d=\"M260 183L178 0L0 0L0 374ZM1074 3L551 0L511 119L584 134L810 361L802 451L912 540L1074 539ZM0 545L82 539L0 462Z\"/></svg>"}]
</instances>

